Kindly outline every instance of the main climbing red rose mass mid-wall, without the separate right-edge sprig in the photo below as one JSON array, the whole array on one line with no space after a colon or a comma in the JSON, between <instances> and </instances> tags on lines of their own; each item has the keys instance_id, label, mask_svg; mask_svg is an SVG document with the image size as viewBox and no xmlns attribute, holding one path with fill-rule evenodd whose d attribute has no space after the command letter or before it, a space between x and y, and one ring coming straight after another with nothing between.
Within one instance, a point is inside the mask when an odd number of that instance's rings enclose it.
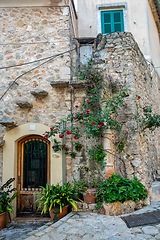
<instances>
[{"instance_id":1,"label":"main climbing red rose mass mid-wall, without the separate right-edge sprig","mask_svg":"<svg viewBox=\"0 0 160 240\"><path fill-rule=\"evenodd\" d=\"M121 130L122 125L116 116L118 115L118 109L122 105L124 98L128 96L129 93L129 90L124 87L112 96L108 91L107 83L104 81L102 72L94 67L92 61L82 66L78 72L78 76L85 86L86 93L86 98L80 111L69 114L66 118L61 119L53 128L50 128L50 131L46 132L44 136L44 138L54 138L56 134L59 134L59 138L63 139L66 135L70 135L75 143L75 151L79 151L78 144L81 144L79 139L81 139L84 134L88 139L92 138L100 142L104 130ZM65 144L61 144L55 139L53 141L54 151L63 149L65 153L70 154L72 158L76 157L76 152L69 151L69 148ZM105 166L104 157L106 154L103 152L103 146L99 146L99 148L90 149L89 156L99 164L102 170Z\"/></svg>"}]
</instances>

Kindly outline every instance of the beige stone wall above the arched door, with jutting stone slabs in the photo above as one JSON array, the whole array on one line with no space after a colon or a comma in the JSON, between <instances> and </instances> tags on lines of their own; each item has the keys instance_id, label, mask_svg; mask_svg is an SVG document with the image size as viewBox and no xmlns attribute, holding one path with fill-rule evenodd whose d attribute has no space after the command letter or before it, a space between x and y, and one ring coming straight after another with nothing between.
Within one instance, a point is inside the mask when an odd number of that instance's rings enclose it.
<instances>
[{"instance_id":1,"label":"beige stone wall above the arched door, with jutting stone slabs","mask_svg":"<svg viewBox=\"0 0 160 240\"><path fill-rule=\"evenodd\" d=\"M0 16L0 43L3 43L0 50L1 67L54 56L75 47L71 44L74 31L69 6L0 8ZM36 66L38 65L33 63L1 69L0 96L18 76ZM0 101L0 122L13 120L10 126L7 125L9 128L0 125L0 138L15 124L19 126L33 122L52 127L56 121L70 113L70 89L52 87L51 83L70 82L71 77L70 52L20 77ZM44 98L35 97L31 90L36 89L45 90L48 95ZM23 107L19 107L16 101L22 103ZM28 104L28 107L24 104ZM1 153L0 165L2 162ZM1 181L2 168L0 183Z\"/></svg>"}]
</instances>

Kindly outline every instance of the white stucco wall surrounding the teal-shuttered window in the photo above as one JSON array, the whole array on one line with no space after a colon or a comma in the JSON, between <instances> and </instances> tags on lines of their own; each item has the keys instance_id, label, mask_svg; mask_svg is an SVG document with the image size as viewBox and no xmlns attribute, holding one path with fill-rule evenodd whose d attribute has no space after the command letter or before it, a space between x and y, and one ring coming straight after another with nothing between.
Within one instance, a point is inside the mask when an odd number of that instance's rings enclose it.
<instances>
[{"instance_id":1,"label":"white stucco wall surrounding the teal-shuttered window","mask_svg":"<svg viewBox=\"0 0 160 240\"><path fill-rule=\"evenodd\" d=\"M81 0L78 1L78 33L80 38L96 37L97 6L119 4L126 5L127 30L137 41L146 59L152 59L154 65L160 66L160 43L156 25L147 0ZM111 9L111 8L109 8ZM127 15L127 16L126 16ZM148 24L149 22L149 24ZM156 49L159 49L158 51ZM157 69L158 70L158 69Z\"/></svg>"}]
</instances>

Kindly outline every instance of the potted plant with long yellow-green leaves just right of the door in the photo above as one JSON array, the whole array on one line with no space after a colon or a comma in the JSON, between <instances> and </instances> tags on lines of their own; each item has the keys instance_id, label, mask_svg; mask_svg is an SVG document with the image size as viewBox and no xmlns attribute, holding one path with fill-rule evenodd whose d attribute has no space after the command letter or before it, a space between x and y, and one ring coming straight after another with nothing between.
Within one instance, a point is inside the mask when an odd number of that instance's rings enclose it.
<instances>
[{"instance_id":1,"label":"potted plant with long yellow-green leaves just right of the door","mask_svg":"<svg viewBox=\"0 0 160 240\"><path fill-rule=\"evenodd\" d=\"M38 209L42 207L41 214L49 210L52 221L59 220L67 214L68 205L78 210L77 202L72 199L72 195L73 186L70 183L62 186L59 183L56 185L47 183L46 187L41 187L41 192L37 194L40 197L37 199Z\"/></svg>"}]
</instances>

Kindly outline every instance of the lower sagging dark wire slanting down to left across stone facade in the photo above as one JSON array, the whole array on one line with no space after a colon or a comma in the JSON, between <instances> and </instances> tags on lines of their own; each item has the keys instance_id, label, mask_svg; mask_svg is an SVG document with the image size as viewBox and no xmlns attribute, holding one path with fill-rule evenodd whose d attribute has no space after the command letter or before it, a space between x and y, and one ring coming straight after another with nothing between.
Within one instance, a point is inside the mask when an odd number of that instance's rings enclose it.
<instances>
[{"instance_id":1,"label":"lower sagging dark wire slanting down to left across stone facade","mask_svg":"<svg viewBox=\"0 0 160 240\"><path fill-rule=\"evenodd\" d=\"M95 39L94 39L94 40L95 40ZM54 58L56 58L56 57L58 57L58 56L62 56L62 55L64 55L64 54L69 53L69 52L72 52L72 51L74 51L74 50L76 50L76 49L78 49L78 48L80 49L81 47L83 47L83 46L85 46L85 45L88 45L88 44L90 44L90 43L93 43L94 40L92 40L92 41L90 41L90 42L88 42L88 43L86 43L86 44L84 44L84 45L81 45L81 46L79 46L79 47L73 48L73 49L68 50L68 51L65 51L65 52L63 52L63 53L59 53L59 54L57 54L57 55L54 55L54 56L50 57L50 59L48 59L47 61L41 63L40 65L38 65L38 66L36 66L36 67L34 67L34 68L32 68L32 69L30 69L30 70L22 73L21 75L19 75L18 77L16 77L15 80L9 85L9 87L6 89L6 91L5 91L5 92L2 94L2 96L0 97L0 100L2 100L2 98L6 95L6 93L9 91L9 89L13 86L14 83L17 82L17 80L18 80L19 78L21 78L21 77L23 77L24 75L32 72L32 71L35 70L36 68L41 67L42 65L44 65L44 64L52 61Z\"/></svg>"}]
</instances>

